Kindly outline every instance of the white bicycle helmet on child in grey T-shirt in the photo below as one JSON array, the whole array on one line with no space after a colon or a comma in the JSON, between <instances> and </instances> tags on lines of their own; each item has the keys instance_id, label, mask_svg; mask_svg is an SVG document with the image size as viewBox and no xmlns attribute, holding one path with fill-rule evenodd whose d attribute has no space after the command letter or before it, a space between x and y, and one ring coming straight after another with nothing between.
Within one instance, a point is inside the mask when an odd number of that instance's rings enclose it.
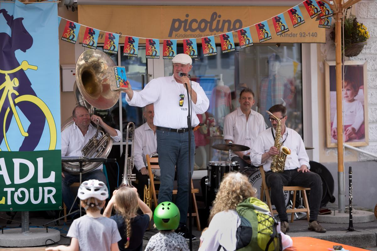
<instances>
[{"instance_id":1,"label":"white bicycle helmet on child in grey T-shirt","mask_svg":"<svg viewBox=\"0 0 377 251\"><path fill-rule=\"evenodd\" d=\"M104 201L109 197L109 191L107 190L106 184L102 181L87 180L78 188L77 196L82 200L93 197Z\"/></svg>"}]
</instances>

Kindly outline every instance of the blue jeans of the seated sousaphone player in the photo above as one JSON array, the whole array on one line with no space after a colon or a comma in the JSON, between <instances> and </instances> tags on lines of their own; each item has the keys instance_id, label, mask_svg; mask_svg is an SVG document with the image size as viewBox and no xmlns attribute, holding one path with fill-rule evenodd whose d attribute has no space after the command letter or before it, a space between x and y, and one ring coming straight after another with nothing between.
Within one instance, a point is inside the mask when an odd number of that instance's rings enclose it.
<instances>
[{"instance_id":1,"label":"blue jeans of the seated sousaphone player","mask_svg":"<svg viewBox=\"0 0 377 251\"><path fill-rule=\"evenodd\" d=\"M66 204L67 213L68 213L68 211L72 207L72 204L74 204L74 201L75 201L75 198L76 198L76 195L73 195L70 192L69 186L72 183L80 182L80 175L79 174L70 174L70 173L66 173L66 172L63 172L63 173L64 173L65 178L63 178L63 177L61 178L61 195L63 197L64 204ZM81 175L81 182L84 182L86 180L99 180L99 181L102 181L103 183L107 184L106 176L104 175L102 170L93 170L93 171L88 172L88 173L83 173ZM77 201L74 204L74 206L72 207L71 212L73 212L75 210L78 210Z\"/></svg>"}]
</instances>

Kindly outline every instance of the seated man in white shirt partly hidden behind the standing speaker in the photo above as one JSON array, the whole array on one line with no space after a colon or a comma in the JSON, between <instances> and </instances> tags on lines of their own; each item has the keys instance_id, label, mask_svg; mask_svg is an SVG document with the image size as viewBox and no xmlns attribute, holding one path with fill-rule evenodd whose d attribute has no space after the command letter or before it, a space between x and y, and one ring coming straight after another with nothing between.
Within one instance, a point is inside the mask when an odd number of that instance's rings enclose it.
<instances>
[{"instance_id":1,"label":"seated man in white shirt partly hidden behind the standing speaker","mask_svg":"<svg viewBox=\"0 0 377 251\"><path fill-rule=\"evenodd\" d=\"M143 107L143 116L147 120L143 125L135 129L135 141L133 150L133 173L138 180L138 193L140 198L144 198L144 185L148 186L148 170L146 168L146 155L157 151L156 126L153 125L155 112L153 104Z\"/></svg>"}]
</instances>

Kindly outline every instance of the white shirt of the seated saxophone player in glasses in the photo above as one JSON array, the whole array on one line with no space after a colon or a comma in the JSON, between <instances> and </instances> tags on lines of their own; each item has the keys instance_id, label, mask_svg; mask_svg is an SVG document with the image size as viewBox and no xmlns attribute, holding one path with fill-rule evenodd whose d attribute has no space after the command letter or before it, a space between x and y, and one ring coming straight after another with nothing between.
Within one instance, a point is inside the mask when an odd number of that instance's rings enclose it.
<instances>
[{"instance_id":1,"label":"white shirt of the seated saxophone player in glasses","mask_svg":"<svg viewBox=\"0 0 377 251\"><path fill-rule=\"evenodd\" d=\"M273 135L275 136L276 131L273 129ZM262 154L270 151L271 146L274 146L275 140L271 133L271 127L267 130L261 132L254 142L254 146L251 149L250 160L254 166L263 165L265 172L270 170L272 157L268 158L264 163L262 163ZM296 131L291 128L286 127L283 134L283 146L287 146L291 150L291 154L287 156L285 161L284 170L291 170L300 168L305 165L310 169L309 157L305 151L304 142Z\"/></svg>"}]
</instances>

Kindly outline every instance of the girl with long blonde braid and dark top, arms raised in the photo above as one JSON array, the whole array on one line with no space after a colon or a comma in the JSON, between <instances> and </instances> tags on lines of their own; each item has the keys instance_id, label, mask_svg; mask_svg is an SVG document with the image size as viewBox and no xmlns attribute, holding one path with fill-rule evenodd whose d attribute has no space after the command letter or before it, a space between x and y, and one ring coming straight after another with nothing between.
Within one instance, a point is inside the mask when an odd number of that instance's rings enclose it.
<instances>
[{"instance_id":1,"label":"girl with long blonde braid and dark top, arms raised","mask_svg":"<svg viewBox=\"0 0 377 251\"><path fill-rule=\"evenodd\" d=\"M116 214L111 216L115 206ZM143 214L137 215L138 209ZM103 216L116 221L122 239L118 242L119 250L141 251L143 249L143 236L149 227L152 210L139 198L135 187L120 187L113 192Z\"/></svg>"}]
</instances>

